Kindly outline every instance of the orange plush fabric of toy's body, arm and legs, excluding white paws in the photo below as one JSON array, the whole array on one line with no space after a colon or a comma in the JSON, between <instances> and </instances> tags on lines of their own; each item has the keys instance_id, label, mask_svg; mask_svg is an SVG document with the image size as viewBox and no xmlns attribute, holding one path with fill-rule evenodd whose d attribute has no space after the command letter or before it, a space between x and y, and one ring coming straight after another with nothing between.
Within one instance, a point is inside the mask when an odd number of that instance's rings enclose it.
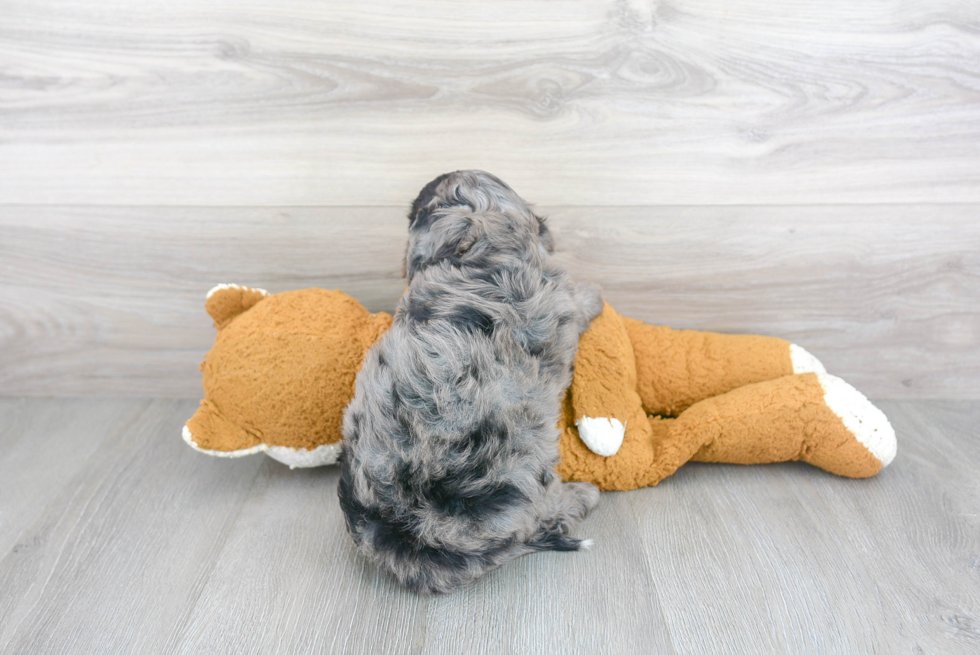
<instances>
[{"instance_id":1,"label":"orange plush fabric of toy's body, arm and legs, excluding white paws","mask_svg":"<svg viewBox=\"0 0 980 655\"><path fill-rule=\"evenodd\" d=\"M817 374L794 374L789 348L782 339L645 325L607 304L579 344L559 425L559 474L628 490L692 460L801 460L848 477L878 473L888 457L872 454L828 406ZM625 426L616 454L586 447L575 426L585 416Z\"/></svg>"}]
</instances>

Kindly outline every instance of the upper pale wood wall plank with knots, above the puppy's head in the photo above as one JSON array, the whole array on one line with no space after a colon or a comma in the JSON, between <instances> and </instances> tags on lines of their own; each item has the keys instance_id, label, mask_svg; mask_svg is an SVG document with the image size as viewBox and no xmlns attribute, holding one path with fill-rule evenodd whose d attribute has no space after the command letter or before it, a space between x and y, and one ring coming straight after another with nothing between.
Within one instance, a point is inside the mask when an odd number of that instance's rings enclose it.
<instances>
[{"instance_id":1,"label":"upper pale wood wall plank with knots, above the puppy's head","mask_svg":"<svg viewBox=\"0 0 980 655\"><path fill-rule=\"evenodd\" d=\"M0 203L980 202L964 0L7 0Z\"/></svg>"}]
</instances>

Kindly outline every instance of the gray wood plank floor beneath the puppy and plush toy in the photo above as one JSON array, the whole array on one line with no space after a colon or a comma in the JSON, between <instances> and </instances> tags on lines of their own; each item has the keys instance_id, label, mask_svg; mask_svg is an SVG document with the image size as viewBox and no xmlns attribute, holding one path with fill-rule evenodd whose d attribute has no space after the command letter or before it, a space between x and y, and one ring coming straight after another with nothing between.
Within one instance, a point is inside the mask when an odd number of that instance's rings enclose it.
<instances>
[{"instance_id":1,"label":"gray wood plank floor beneath the puppy and plush toy","mask_svg":"<svg viewBox=\"0 0 980 655\"><path fill-rule=\"evenodd\" d=\"M975 401L885 401L870 480L689 465L581 554L439 598L359 559L337 471L193 452L194 403L0 400L5 653L976 653Z\"/></svg>"}]
</instances>

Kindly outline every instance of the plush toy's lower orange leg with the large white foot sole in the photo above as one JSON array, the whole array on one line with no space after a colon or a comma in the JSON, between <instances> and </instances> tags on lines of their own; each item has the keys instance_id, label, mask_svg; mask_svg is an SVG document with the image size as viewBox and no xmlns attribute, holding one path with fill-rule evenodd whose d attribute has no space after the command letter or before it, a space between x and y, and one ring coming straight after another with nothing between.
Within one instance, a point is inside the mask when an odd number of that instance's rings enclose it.
<instances>
[{"instance_id":1,"label":"plush toy's lower orange leg with the large white foot sole","mask_svg":"<svg viewBox=\"0 0 980 655\"><path fill-rule=\"evenodd\" d=\"M881 410L840 378L816 373L750 384L697 403L674 421L670 440L690 434L706 444L694 461L802 460L852 478L875 475L896 450L895 431Z\"/></svg>"}]
</instances>

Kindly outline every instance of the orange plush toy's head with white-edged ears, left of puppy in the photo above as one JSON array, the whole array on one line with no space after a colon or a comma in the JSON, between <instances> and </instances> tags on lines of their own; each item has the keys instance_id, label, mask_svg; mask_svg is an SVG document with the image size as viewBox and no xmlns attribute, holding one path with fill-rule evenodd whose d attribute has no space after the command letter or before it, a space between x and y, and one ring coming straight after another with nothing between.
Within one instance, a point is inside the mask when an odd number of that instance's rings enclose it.
<instances>
[{"instance_id":1,"label":"orange plush toy's head with white-edged ears, left of puppy","mask_svg":"<svg viewBox=\"0 0 980 655\"><path fill-rule=\"evenodd\" d=\"M391 326L341 291L208 293L218 335L201 363L204 400L184 440L210 455L265 452L290 467L331 464L364 355Z\"/></svg>"}]
</instances>

